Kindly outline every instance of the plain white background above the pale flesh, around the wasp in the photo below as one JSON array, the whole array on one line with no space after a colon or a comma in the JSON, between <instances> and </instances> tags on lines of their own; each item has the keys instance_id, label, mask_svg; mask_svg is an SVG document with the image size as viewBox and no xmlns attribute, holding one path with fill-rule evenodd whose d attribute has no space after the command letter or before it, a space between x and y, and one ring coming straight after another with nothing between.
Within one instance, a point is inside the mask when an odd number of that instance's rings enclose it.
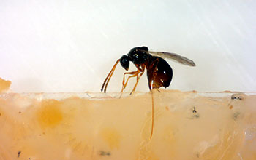
<instances>
[{"instance_id":1,"label":"plain white background above the pale flesh, around the wasp","mask_svg":"<svg viewBox=\"0 0 256 160\"><path fill-rule=\"evenodd\" d=\"M256 91L255 39L255 0L0 1L0 77L15 92L99 92L116 60L142 45L195 61L167 60L167 89ZM123 73L119 64L108 92ZM146 74L137 91L148 91Z\"/></svg>"}]
</instances>

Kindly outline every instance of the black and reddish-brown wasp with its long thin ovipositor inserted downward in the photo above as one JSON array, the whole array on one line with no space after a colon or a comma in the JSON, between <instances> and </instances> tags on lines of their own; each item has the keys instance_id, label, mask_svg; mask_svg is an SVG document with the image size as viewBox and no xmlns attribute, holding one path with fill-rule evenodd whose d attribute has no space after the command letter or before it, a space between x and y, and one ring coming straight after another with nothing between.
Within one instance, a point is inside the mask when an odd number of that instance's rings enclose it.
<instances>
[{"instance_id":1,"label":"black and reddish-brown wasp with its long thin ovipositor inserted downward","mask_svg":"<svg viewBox=\"0 0 256 160\"><path fill-rule=\"evenodd\" d=\"M168 58L171 60L175 60L178 63L183 65L195 66L195 63L192 60L189 60L187 57L183 57L181 55L177 55L175 53L170 52L153 52L148 51L148 47L135 47L129 51L127 55L123 55L120 59L118 59L113 65L110 73L106 77L105 81L102 84L101 91L106 92L108 83L113 75L113 72L116 69L116 65L121 63L121 66L128 71L129 70L129 62L131 61L137 68L137 71L126 72L124 73L124 78L122 82L121 93L124 91L125 87L127 87L127 83L130 78L136 77L137 81L135 87L133 87L132 92L135 92L138 81L140 80L140 76L143 75L145 69L147 70L148 76L148 87L149 89L159 89L160 87L169 87L170 81L173 78L173 69L170 65L163 59ZM125 75L131 75L125 81ZM132 92L130 95L132 95ZM154 128L154 98L152 95L152 127L151 127L151 137L153 135Z\"/></svg>"}]
</instances>

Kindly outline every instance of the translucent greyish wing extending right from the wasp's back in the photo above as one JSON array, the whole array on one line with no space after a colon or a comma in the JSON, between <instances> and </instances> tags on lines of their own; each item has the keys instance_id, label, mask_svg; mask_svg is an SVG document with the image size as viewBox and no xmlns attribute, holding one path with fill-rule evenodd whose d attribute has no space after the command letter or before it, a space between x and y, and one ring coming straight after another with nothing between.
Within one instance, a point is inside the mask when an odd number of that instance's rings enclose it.
<instances>
[{"instance_id":1,"label":"translucent greyish wing extending right from the wasp's back","mask_svg":"<svg viewBox=\"0 0 256 160\"><path fill-rule=\"evenodd\" d=\"M151 55L156 55L162 58L168 58L171 60L176 61L177 63L181 63L183 65L195 66L193 60L189 60L187 57L183 57L181 55L177 55L176 53L169 53L169 52L153 52L148 51Z\"/></svg>"}]
</instances>

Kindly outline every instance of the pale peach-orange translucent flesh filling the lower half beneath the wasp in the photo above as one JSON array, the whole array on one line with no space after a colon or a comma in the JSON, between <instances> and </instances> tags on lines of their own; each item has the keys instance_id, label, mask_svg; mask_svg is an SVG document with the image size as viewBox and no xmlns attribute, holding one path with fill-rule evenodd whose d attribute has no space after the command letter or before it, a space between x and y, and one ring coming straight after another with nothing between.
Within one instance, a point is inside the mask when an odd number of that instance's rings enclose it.
<instances>
[{"instance_id":1,"label":"pale peach-orange translucent flesh filling the lower half beneath the wasp","mask_svg":"<svg viewBox=\"0 0 256 160\"><path fill-rule=\"evenodd\" d=\"M255 159L255 94L83 96L0 94L0 159Z\"/></svg>"}]
</instances>

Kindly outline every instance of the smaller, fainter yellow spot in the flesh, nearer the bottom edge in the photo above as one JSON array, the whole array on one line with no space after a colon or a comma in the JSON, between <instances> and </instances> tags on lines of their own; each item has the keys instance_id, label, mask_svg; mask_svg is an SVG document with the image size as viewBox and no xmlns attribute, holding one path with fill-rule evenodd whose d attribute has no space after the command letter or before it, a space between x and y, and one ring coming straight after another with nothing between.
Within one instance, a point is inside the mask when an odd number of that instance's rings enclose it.
<instances>
[{"instance_id":1,"label":"smaller, fainter yellow spot in the flesh, nearer the bottom edge","mask_svg":"<svg viewBox=\"0 0 256 160\"><path fill-rule=\"evenodd\" d=\"M101 136L111 149L119 148L121 136L116 129L102 129Z\"/></svg>"}]
</instances>

